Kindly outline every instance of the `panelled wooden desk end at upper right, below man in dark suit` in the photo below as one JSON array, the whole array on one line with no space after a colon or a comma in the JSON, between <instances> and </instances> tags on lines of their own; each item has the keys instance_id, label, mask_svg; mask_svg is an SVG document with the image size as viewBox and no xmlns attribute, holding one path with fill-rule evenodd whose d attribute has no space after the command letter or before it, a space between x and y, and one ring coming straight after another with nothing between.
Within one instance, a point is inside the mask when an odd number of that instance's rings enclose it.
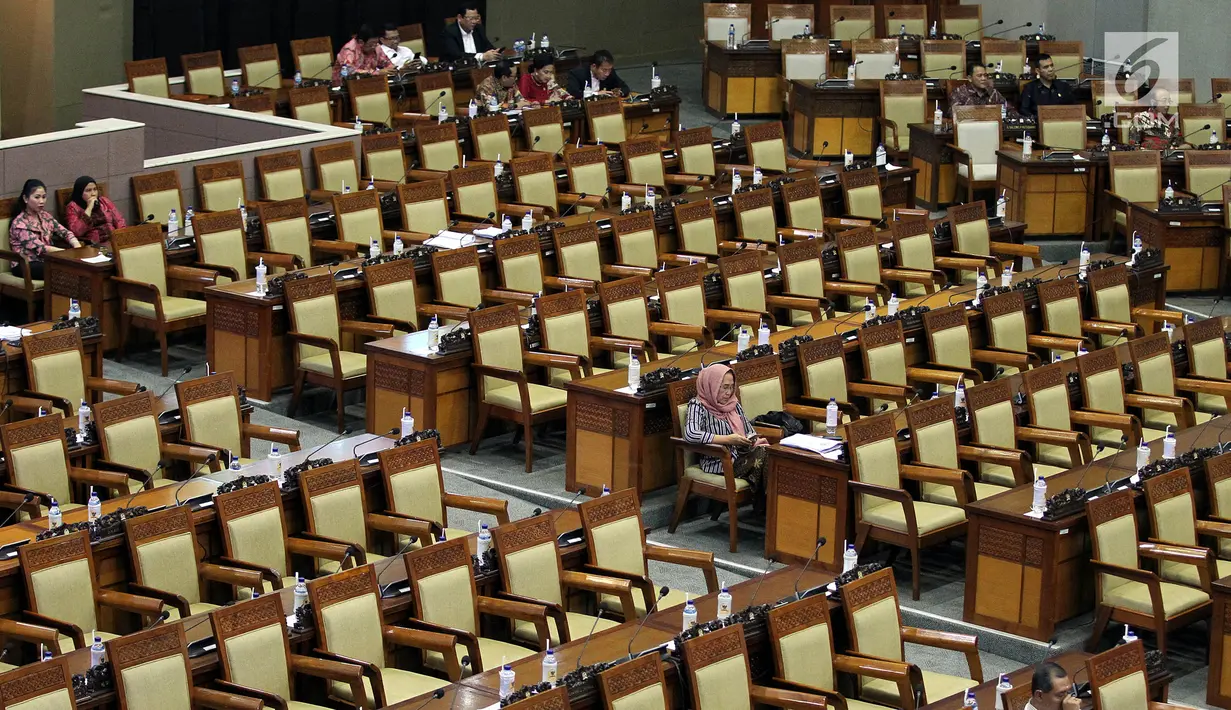
<instances>
[{"instance_id":1,"label":"panelled wooden desk end at upper right, below man in dark suit","mask_svg":"<svg viewBox=\"0 0 1231 710\"><path fill-rule=\"evenodd\" d=\"M998 191L1008 198L1006 217L1027 223L1027 236L1092 239L1099 199L1097 167L1089 160L1044 160L1041 150L1025 160L1020 148L998 150L997 156Z\"/></svg>"}]
</instances>

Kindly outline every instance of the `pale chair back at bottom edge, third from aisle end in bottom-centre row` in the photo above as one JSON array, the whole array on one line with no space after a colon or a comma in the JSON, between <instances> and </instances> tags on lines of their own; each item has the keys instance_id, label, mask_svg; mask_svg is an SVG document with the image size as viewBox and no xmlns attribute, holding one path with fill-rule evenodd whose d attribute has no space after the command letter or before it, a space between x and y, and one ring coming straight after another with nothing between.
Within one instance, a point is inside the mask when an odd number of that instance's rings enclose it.
<instances>
[{"instance_id":1,"label":"pale chair back at bottom edge, third from aisle end in bottom-centre row","mask_svg":"<svg viewBox=\"0 0 1231 710\"><path fill-rule=\"evenodd\" d=\"M682 645L697 710L750 710L748 652L744 625L731 624Z\"/></svg>"}]
</instances>

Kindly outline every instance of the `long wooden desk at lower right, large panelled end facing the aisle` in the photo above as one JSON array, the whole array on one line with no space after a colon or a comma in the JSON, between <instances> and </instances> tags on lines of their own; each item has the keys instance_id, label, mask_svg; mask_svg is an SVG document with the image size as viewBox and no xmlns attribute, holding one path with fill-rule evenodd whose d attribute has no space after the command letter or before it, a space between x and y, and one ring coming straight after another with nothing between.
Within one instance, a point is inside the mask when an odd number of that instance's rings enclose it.
<instances>
[{"instance_id":1,"label":"long wooden desk at lower right, large panelled end facing the aisle","mask_svg":"<svg viewBox=\"0 0 1231 710\"><path fill-rule=\"evenodd\" d=\"M1129 362L1128 346L1117 346ZM1071 362L1071 361L1065 361ZM1176 450L1219 443L1231 417L1217 417L1179 432ZM1155 460L1162 439L1150 444ZM1050 493L1081 486L1087 491L1136 470L1136 452L1128 450L1048 479ZM1194 482L1203 490L1204 482ZM1043 521L1028 517L1033 491L1018 486L966 506L966 591L963 619L1019 636L1045 641L1056 624L1089 612L1094 602L1094 571L1089 565L1086 512Z\"/></svg>"}]
</instances>

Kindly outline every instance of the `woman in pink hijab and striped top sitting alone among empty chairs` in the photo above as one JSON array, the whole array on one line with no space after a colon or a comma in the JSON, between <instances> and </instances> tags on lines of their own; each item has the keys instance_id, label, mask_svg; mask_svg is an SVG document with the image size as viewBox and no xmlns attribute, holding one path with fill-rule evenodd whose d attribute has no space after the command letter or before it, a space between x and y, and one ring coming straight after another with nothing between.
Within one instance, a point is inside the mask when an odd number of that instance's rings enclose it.
<instances>
[{"instance_id":1,"label":"woman in pink hijab and striped top sitting alone among empty chairs","mask_svg":"<svg viewBox=\"0 0 1231 710\"><path fill-rule=\"evenodd\" d=\"M735 461L735 476L747 480L760 498L769 443L757 437L752 422L744 416L731 368L712 364L697 375L697 396L688 402L684 441L726 447ZM698 465L707 474L723 475L723 460L716 457L700 457Z\"/></svg>"}]
</instances>

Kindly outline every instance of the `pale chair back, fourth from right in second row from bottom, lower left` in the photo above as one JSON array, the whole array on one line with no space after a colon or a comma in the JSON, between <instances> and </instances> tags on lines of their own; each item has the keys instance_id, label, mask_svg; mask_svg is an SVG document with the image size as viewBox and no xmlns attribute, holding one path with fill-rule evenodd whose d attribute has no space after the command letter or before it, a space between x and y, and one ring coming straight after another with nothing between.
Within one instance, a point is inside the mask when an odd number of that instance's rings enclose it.
<instances>
[{"instance_id":1,"label":"pale chair back, fourth from right in second row from bottom, lower left","mask_svg":"<svg viewBox=\"0 0 1231 710\"><path fill-rule=\"evenodd\" d=\"M308 582L319 647L385 667L380 593L373 565Z\"/></svg>"}]
</instances>

